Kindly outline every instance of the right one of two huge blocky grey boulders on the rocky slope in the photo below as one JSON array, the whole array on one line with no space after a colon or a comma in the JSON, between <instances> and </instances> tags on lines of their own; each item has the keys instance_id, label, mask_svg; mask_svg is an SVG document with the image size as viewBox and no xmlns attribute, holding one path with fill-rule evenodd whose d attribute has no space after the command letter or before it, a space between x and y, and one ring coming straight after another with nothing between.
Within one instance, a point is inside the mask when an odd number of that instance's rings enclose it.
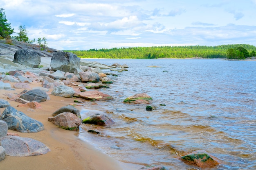
<instances>
[{"instance_id":1,"label":"right one of two huge blocky grey boulders on the rocky slope","mask_svg":"<svg viewBox=\"0 0 256 170\"><path fill-rule=\"evenodd\" d=\"M80 69L80 58L72 52L58 51L54 52L51 59L52 71L63 71L74 73L77 69Z\"/></svg>"}]
</instances>

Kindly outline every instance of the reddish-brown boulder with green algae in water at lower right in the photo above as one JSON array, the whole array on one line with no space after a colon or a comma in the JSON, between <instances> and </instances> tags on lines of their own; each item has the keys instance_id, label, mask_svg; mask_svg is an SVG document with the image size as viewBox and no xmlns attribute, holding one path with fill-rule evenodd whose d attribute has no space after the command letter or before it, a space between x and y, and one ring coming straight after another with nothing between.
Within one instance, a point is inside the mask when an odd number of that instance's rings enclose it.
<instances>
[{"instance_id":1,"label":"reddish-brown boulder with green algae in water at lower right","mask_svg":"<svg viewBox=\"0 0 256 170\"><path fill-rule=\"evenodd\" d=\"M218 159L209 155L204 150L196 150L180 158L187 164L198 166L200 168L212 168L219 164Z\"/></svg>"}]
</instances>

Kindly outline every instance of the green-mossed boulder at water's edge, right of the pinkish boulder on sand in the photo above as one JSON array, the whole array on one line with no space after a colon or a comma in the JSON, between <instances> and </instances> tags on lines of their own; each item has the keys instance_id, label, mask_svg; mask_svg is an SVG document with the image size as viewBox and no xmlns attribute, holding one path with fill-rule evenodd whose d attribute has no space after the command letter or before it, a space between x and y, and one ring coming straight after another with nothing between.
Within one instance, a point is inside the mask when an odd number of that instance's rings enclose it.
<instances>
[{"instance_id":1,"label":"green-mossed boulder at water's edge, right of the pinkish boulder on sand","mask_svg":"<svg viewBox=\"0 0 256 170\"><path fill-rule=\"evenodd\" d=\"M106 116L104 114L97 113L97 114L94 114L93 116L89 116L88 118L83 119L82 123L85 123L85 124L96 124L96 125L99 125L99 126L110 127L115 122L114 122L114 120L112 120L108 116Z\"/></svg>"}]
</instances>

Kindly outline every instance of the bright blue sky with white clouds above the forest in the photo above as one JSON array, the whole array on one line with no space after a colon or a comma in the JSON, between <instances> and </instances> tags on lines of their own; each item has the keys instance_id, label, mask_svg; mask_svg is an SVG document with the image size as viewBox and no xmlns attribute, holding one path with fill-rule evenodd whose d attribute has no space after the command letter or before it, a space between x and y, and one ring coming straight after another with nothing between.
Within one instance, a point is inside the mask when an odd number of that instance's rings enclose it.
<instances>
[{"instance_id":1,"label":"bright blue sky with white clouds above the forest","mask_svg":"<svg viewBox=\"0 0 256 170\"><path fill-rule=\"evenodd\" d=\"M58 50L256 46L256 0L0 0L15 32ZM15 33L13 34L13 36Z\"/></svg>"}]
</instances>

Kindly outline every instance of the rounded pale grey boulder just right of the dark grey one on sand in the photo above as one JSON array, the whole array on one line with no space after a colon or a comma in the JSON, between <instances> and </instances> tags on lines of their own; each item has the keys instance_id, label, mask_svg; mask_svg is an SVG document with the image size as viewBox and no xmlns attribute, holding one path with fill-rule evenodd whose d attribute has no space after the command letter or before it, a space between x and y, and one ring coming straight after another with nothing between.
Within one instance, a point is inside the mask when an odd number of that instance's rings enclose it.
<instances>
[{"instance_id":1,"label":"rounded pale grey boulder just right of the dark grey one on sand","mask_svg":"<svg viewBox=\"0 0 256 170\"><path fill-rule=\"evenodd\" d=\"M75 91L72 87L67 87L66 85L60 85L54 87L52 91L52 95L54 96L61 96L65 98L72 98L75 94Z\"/></svg>"}]
</instances>

